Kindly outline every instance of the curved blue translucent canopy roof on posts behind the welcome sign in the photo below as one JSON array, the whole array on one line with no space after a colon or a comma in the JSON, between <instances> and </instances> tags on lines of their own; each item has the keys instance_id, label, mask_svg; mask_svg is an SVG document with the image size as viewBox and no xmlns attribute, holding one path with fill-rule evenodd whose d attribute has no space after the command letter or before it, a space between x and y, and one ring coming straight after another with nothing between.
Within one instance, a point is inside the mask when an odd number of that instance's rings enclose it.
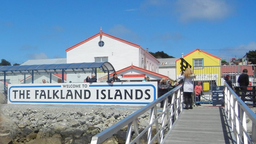
<instances>
[{"instance_id":1,"label":"curved blue translucent canopy roof on posts behind the welcome sign","mask_svg":"<svg viewBox=\"0 0 256 144\"><path fill-rule=\"evenodd\" d=\"M20 65L20 66L0 66L1 75L34 75L58 74L58 73L88 73L95 72L100 68L102 72L115 72L114 67L109 62L83 62L64 64L42 64L42 65ZM101 70L102 69L102 70ZM32 72L33 71L33 72Z\"/></svg>"}]
</instances>

